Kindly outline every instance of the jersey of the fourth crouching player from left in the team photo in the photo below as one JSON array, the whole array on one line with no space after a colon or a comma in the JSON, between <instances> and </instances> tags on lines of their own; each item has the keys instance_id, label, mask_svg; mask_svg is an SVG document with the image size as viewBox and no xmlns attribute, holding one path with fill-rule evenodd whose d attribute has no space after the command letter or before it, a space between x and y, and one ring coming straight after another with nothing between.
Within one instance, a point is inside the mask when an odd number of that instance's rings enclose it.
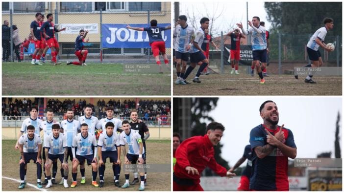
<instances>
[{"instance_id":1,"label":"jersey of the fourth crouching player from left in the team photo","mask_svg":"<svg viewBox=\"0 0 344 193\"><path fill-rule=\"evenodd\" d=\"M106 131L102 132L99 135L98 146L101 147L101 151L117 151L117 147L121 146L120 135L117 132L113 132L109 136Z\"/></svg>"}]
</instances>

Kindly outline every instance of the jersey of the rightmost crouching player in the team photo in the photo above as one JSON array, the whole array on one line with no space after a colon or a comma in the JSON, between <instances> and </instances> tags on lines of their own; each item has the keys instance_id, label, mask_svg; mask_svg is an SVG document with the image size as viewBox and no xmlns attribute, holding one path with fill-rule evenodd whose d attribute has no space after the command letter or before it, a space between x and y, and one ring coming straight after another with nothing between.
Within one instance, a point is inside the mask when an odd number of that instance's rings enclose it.
<instances>
[{"instance_id":1,"label":"jersey of the rightmost crouching player in the team photo","mask_svg":"<svg viewBox=\"0 0 344 193\"><path fill-rule=\"evenodd\" d=\"M129 154L139 155L140 154L140 146L139 142L142 142L141 135L138 131L134 129L130 129L129 135L127 135L124 131L120 134L121 139L121 146L128 145L129 146ZM142 154L145 154L145 148L142 151Z\"/></svg>"}]
</instances>

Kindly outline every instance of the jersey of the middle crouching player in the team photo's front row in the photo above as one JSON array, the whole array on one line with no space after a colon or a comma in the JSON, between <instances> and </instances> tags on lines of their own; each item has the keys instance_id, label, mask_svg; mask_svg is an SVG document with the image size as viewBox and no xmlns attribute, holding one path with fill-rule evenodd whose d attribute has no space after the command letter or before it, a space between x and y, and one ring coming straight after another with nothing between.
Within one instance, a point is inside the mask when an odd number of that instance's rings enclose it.
<instances>
[{"instance_id":1,"label":"jersey of the middle crouching player in the team photo's front row","mask_svg":"<svg viewBox=\"0 0 344 193\"><path fill-rule=\"evenodd\" d=\"M97 140L94 134L89 132L87 137L84 138L82 133L78 133L73 139L72 147L77 147L76 155L85 156L93 154L92 145L97 148Z\"/></svg>"}]
</instances>

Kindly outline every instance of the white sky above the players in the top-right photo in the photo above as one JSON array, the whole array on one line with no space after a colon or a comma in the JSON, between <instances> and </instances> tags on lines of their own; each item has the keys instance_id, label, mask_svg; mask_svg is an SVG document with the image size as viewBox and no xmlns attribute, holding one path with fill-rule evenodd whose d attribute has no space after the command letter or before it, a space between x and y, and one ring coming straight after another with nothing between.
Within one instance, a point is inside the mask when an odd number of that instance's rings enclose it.
<instances>
[{"instance_id":1,"label":"white sky above the players in the top-right photo","mask_svg":"<svg viewBox=\"0 0 344 193\"><path fill-rule=\"evenodd\" d=\"M208 10L209 13L219 13L222 11L221 17L216 20L214 25L223 28L223 31L227 29L224 26L228 26L228 23L234 24L243 23L244 29L246 29L246 2L235 1L235 2L179 2L179 15L186 15L187 12L193 12L195 15L205 16L205 11ZM192 15L192 14L189 14ZM265 26L269 30L271 23L267 21L267 13L264 8L264 2L248 2L248 19L251 21L254 16L258 16L260 21L265 21ZM201 18L200 17L200 18ZM172 19L174 20L174 5L172 7ZM198 27L200 24L198 25Z\"/></svg>"}]
</instances>

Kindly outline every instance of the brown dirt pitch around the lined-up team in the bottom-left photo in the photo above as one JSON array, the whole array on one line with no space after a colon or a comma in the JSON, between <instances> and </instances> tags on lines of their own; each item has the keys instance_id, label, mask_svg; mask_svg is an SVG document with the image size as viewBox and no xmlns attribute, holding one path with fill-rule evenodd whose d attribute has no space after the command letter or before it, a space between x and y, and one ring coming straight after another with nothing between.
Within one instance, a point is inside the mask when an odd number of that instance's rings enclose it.
<instances>
[{"instance_id":1,"label":"brown dirt pitch around the lined-up team in the bottom-left photo","mask_svg":"<svg viewBox=\"0 0 344 193\"><path fill-rule=\"evenodd\" d=\"M2 140L2 176L20 179L19 176L19 159L20 153L19 150L15 150L14 146L16 145L15 140ZM171 140L148 140L146 141L147 146L147 164L171 164ZM126 147L127 148L127 147ZM121 152L121 161L124 163L124 156L123 152ZM98 156L97 156L98 159ZM43 160L42 160L43 161ZM68 162L70 164L70 160ZM56 182L59 183L61 181L61 163L58 160L58 170L56 174ZM85 177L86 177L86 184L81 184L81 174L78 167L78 174L77 174L77 185L74 188L71 188L72 184L72 165L69 165L69 176L68 176L68 184L69 188L64 188L63 185L53 184L52 187L49 189L45 189L45 185L43 185L43 190L47 191L139 191L140 183L136 183L133 186L129 186L128 188L118 188L114 185L113 180L113 171L112 171L112 163L109 160L106 160L106 170L104 173L104 186L102 188L94 187L91 184L92 178L92 167L87 166L85 167ZM42 169L43 171L43 169ZM50 169L51 172L51 169ZM139 174L140 175L140 174ZM30 183L36 186L37 174L36 174L36 164L33 164L31 160L30 163L27 165L27 172L26 172L26 180L27 183ZM129 176L129 183L134 180L134 174L130 173ZM42 172L42 181L44 181L44 174ZM125 176L123 172L123 166L120 175L120 183L123 185L125 182ZM99 173L97 175L97 183L99 184ZM33 187L25 185L25 188L20 190L19 182L14 180L2 178L2 191L39 191ZM145 191L171 191L171 173L147 173L147 186Z\"/></svg>"}]
</instances>

